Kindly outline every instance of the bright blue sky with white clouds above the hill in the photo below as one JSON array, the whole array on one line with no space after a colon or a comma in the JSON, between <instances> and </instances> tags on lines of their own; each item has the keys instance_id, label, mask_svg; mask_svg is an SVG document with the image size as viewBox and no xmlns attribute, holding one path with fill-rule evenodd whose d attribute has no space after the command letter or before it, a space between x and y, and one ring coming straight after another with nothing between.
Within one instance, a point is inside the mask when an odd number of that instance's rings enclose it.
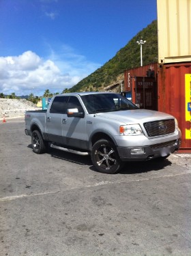
<instances>
[{"instance_id":1,"label":"bright blue sky with white clouds above the hill","mask_svg":"<svg viewBox=\"0 0 191 256\"><path fill-rule=\"evenodd\" d=\"M156 0L0 0L0 93L61 93L156 18Z\"/></svg>"}]
</instances>

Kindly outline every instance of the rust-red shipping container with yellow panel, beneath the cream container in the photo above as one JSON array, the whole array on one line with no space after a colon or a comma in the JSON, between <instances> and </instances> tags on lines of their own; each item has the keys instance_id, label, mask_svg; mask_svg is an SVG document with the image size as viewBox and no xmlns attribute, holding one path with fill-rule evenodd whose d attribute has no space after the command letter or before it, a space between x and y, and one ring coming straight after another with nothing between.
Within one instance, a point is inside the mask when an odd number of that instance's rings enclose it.
<instances>
[{"instance_id":1,"label":"rust-red shipping container with yellow panel, beneath the cream container","mask_svg":"<svg viewBox=\"0 0 191 256\"><path fill-rule=\"evenodd\" d=\"M191 153L191 62L159 65L158 111L177 118L180 152Z\"/></svg>"}]
</instances>

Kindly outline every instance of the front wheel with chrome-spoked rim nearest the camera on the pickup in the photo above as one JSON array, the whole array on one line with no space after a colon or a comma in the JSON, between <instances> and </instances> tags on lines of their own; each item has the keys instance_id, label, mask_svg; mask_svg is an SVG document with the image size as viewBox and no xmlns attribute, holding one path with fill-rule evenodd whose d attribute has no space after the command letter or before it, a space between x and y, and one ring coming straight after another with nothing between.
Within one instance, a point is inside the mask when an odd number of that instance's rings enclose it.
<instances>
[{"instance_id":1,"label":"front wheel with chrome-spoked rim nearest the camera on the pickup","mask_svg":"<svg viewBox=\"0 0 191 256\"><path fill-rule=\"evenodd\" d=\"M116 173L123 166L117 148L106 139L95 142L91 150L91 161L101 173Z\"/></svg>"}]
</instances>

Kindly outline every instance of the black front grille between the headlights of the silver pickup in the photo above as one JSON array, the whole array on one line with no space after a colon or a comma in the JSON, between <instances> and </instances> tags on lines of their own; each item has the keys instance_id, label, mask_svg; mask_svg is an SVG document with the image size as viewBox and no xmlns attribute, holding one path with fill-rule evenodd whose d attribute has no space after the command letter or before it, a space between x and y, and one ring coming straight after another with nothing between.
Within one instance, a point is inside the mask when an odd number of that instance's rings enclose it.
<instances>
[{"instance_id":1,"label":"black front grille between the headlights of the silver pickup","mask_svg":"<svg viewBox=\"0 0 191 256\"><path fill-rule=\"evenodd\" d=\"M175 120L167 119L144 124L149 137L165 135L175 132Z\"/></svg>"}]
</instances>

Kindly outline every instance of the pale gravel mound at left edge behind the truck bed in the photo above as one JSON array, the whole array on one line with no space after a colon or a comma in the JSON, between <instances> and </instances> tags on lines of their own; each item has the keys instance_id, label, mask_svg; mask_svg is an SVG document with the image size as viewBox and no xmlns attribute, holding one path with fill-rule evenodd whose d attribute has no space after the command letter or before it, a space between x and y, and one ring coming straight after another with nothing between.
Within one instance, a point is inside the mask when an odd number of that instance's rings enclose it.
<instances>
[{"instance_id":1,"label":"pale gravel mound at left edge behind the truck bed","mask_svg":"<svg viewBox=\"0 0 191 256\"><path fill-rule=\"evenodd\" d=\"M0 98L0 119L24 117L25 111L39 109L32 102L25 99L3 99Z\"/></svg>"}]
</instances>

